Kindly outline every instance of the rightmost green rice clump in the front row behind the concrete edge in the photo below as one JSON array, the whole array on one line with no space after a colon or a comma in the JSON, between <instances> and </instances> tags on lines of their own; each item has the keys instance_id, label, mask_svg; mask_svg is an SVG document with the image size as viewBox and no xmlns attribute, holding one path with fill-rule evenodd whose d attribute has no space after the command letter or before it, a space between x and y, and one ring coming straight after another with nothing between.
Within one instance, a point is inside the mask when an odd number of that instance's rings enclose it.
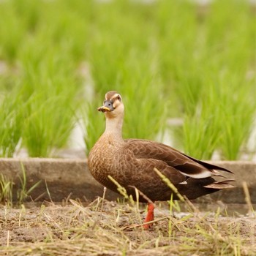
<instances>
[{"instance_id":1,"label":"rightmost green rice clump in the front row behind the concrete edge","mask_svg":"<svg viewBox=\"0 0 256 256\"><path fill-rule=\"evenodd\" d=\"M239 80L234 74L228 74L220 83L228 83L230 87L222 87L219 108L222 120L219 148L224 159L236 160L241 157L252 132L256 115L254 85L246 80Z\"/></svg>"}]
</instances>

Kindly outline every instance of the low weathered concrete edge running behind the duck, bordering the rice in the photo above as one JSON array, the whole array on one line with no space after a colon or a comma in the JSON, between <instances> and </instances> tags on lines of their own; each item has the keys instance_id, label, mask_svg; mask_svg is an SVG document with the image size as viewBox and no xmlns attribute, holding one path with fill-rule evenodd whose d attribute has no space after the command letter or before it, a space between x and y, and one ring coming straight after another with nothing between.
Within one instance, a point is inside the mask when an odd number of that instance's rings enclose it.
<instances>
[{"instance_id":1,"label":"low weathered concrete edge running behind the duck, bordering the rice","mask_svg":"<svg viewBox=\"0 0 256 256\"><path fill-rule=\"evenodd\" d=\"M256 162L208 162L233 171L234 175L224 174L227 178L234 178L237 186L234 189L224 189L216 192L208 197L211 197L212 200L222 200L225 203L245 203L242 187L245 181L249 187L251 201L256 203ZM12 179L15 184L13 187L15 191L20 188L19 177L22 176L22 166L26 170L28 189L37 181L41 181L31 192L33 200L51 199L59 202L67 198L83 198L91 201L97 196L102 196L103 187L91 176L86 159L0 158L0 174ZM50 195L46 187L48 187ZM17 194L15 191L14 195ZM116 200L117 197L116 193L108 190L106 196L108 200ZM205 197L200 198L203 200Z\"/></svg>"}]
</instances>

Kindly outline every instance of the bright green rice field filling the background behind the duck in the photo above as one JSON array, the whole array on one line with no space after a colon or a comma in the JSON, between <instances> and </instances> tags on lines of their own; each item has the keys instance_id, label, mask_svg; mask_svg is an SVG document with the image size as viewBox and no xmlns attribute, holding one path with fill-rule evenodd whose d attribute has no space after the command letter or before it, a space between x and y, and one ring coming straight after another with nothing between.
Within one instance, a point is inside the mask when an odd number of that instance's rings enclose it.
<instances>
[{"instance_id":1,"label":"bright green rice field filling the background behind the duck","mask_svg":"<svg viewBox=\"0 0 256 256\"><path fill-rule=\"evenodd\" d=\"M167 117L179 117L184 127L178 134L170 130L187 153L211 158L219 151L222 159L239 159L246 152L255 118L255 17L249 2L202 7L167 0L10 0L0 7L0 58L8 66L4 76L10 76L4 94L15 88L20 100L18 108L5 110L10 118L4 124L14 116L24 121L17 138L23 136L31 156L50 156L67 144L82 101L88 105L83 116L89 150L103 123L93 108L110 89L129 105L125 138L155 139L169 129ZM81 94L81 62L90 67L93 102ZM234 91L236 97L229 97ZM13 140L11 132L7 137ZM12 156L17 140L10 154L1 155Z\"/></svg>"}]
</instances>

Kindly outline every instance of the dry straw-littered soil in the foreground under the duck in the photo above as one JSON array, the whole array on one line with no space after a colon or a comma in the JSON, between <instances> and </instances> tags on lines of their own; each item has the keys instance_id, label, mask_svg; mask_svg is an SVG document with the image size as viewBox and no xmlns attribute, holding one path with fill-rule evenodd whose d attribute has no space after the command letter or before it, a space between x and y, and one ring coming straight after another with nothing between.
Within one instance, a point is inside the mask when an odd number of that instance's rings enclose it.
<instances>
[{"instance_id":1,"label":"dry straw-littered soil in the foreground under the duck","mask_svg":"<svg viewBox=\"0 0 256 256\"><path fill-rule=\"evenodd\" d=\"M136 203L0 206L0 255L256 255L253 212L179 207L170 214L158 204L156 222L144 230L146 206Z\"/></svg>"}]
</instances>

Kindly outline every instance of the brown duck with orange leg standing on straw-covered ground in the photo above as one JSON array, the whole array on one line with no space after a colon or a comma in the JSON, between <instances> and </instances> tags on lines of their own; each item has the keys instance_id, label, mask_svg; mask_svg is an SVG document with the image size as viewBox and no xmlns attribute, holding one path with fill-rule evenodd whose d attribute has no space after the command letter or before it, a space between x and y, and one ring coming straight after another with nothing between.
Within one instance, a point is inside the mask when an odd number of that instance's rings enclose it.
<instances>
[{"instance_id":1,"label":"brown duck with orange leg standing on straw-covered ground","mask_svg":"<svg viewBox=\"0 0 256 256\"><path fill-rule=\"evenodd\" d=\"M121 95L116 91L108 91L105 94L103 106L98 110L105 113L106 127L105 132L90 151L89 170L99 183L117 192L116 185L108 178L111 176L127 189L127 194L132 195L135 200L136 187L140 191L140 202L148 203L145 222L154 219L152 202L170 200L170 195L173 193L154 168L166 176L178 192L188 199L233 187L228 181L216 181L212 178L212 176L221 176L217 170L231 173L230 170L194 159L175 148L155 141L124 140L122 138L124 104ZM175 193L173 199L178 199ZM145 228L149 226L144 225Z\"/></svg>"}]
</instances>

